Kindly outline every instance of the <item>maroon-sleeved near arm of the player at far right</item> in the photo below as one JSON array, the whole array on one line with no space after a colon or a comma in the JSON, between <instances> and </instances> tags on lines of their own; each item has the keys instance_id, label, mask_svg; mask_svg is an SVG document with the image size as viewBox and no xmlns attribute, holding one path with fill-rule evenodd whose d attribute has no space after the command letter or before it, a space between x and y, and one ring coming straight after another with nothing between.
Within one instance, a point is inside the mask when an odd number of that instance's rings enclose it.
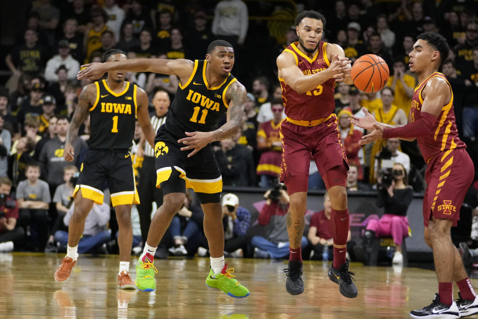
<instances>
[{"instance_id":1,"label":"maroon-sleeved near arm of the player at far right","mask_svg":"<svg viewBox=\"0 0 478 319\"><path fill-rule=\"evenodd\" d=\"M432 78L422 90L423 104L419 119L414 119L407 125L393 129L375 124L375 130L363 136L359 144L364 145L382 138L414 139L430 134L443 106L450 103L451 96L451 89L447 81L440 77Z\"/></svg>"}]
</instances>

